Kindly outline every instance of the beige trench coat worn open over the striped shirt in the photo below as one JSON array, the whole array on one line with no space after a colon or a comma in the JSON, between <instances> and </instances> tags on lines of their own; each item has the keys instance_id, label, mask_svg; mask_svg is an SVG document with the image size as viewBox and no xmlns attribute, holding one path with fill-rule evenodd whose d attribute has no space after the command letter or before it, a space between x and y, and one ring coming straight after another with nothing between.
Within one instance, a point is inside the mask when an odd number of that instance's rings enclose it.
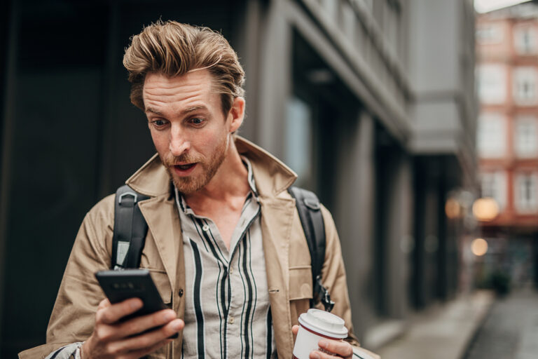
<instances>
[{"instance_id":1,"label":"beige trench coat worn open over the striped shirt","mask_svg":"<svg viewBox=\"0 0 538 359\"><path fill-rule=\"evenodd\" d=\"M298 324L298 316L308 310L312 298L310 253L295 200L287 192L296 175L277 158L241 137L237 137L236 146L251 161L259 193L277 353L279 358L291 358L294 346L291 326ZM151 197L139 203L149 226L140 266L151 271L163 301L178 313L179 318L184 318L186 296L181 224L167 172L156 155L126 183ZM104 299L94 273L109 269L111 265L113 201L113 195L104 198L85 216L50 316L47 344L23 351L20 358L44 358L61 346L84 341L92 333L97 305ZM352 334L340 241L329 211L322 208L322 212L326 228L323 282L336 302L332 313L344 318L349 330L347 340L358 348ZM181 358L181 334L149 358Z\"/></svg>"}]
</instances>

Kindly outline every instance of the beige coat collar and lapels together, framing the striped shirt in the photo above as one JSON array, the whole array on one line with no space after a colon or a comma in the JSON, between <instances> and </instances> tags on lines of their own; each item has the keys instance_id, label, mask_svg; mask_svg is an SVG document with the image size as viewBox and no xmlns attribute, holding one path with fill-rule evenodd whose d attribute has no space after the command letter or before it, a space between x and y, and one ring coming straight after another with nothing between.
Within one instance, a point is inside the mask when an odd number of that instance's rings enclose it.
<instances>
[{"instance_id":1,"label":"beige coat collar and lapels together, framing the striped shirt","mask_svg":"<svg viewBox=\"0 0 538 359\"><path fill-rule=\"evenodd\" d=\"M258 189L263 252L265 263L268 264L269 300L276 323L275 341L278 356L285 358L291 355L293 349L288 266L295 201L291 196L280 194L294 183L297 175L273 155L242 137L235 137L235 146L240 154L249 158ZM140 202L140 210L148 222L170 284L176 292L185 285L183 248L177 243L177 238L181 236L181 224L172 199L173 186L159 156L154 155L125 183L135 191L152 197ZM172 248L175 250L170 250ZM174 309L180 318L184 318L184 301L174 302ZM173 350L181 353L181 341L174 344Z\"/></svg>"}]
</instances>

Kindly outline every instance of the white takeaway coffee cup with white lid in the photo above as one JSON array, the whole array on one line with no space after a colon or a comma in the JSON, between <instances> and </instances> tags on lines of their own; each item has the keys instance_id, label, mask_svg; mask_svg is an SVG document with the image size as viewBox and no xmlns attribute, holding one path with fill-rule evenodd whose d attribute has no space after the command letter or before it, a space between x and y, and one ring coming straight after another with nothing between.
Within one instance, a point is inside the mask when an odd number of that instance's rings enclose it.
<instances>
[{"instance_id":1,"label":"white takeaway coffee cup with white lid","mask_svg":"<svg viewBox=\"0 0 538 359\"><path fill-rule=\"evenodd\" d=\"M299 316L299 324L294 359L308 359L312 351L328 353L319 348L318 343L322 339L342 340L347 337L344 320L328 311L308 309L308 312Z\"/></svg>"}]
</instances>

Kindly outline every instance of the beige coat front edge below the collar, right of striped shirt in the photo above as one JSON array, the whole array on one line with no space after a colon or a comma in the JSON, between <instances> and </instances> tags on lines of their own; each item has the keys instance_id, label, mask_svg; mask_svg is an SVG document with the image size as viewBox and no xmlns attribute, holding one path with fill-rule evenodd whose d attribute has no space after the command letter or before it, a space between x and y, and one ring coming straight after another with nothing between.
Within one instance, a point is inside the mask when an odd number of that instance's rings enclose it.
<instances>
[{"instance_id":1,"label":"beige coat front edge below the collar, right of striped shirt","mask_svg":"<svg viewBox=\"0 0 538 359\"><path fill-rule=\"evenodd\" d=\"M293 350L291 314L289 312L289 241L294 218L293 200L260 198L263 254L273 310L273 327L279 358Z\"/></svg>"}]
</instances>

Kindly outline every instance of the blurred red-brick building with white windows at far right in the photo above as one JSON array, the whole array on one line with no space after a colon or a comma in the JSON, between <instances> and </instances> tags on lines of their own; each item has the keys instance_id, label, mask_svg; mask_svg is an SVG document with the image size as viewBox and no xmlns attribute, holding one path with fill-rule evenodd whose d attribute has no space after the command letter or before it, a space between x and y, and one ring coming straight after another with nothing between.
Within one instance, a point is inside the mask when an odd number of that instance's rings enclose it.
<instances>
[{"instance_id":1,"label":"blurred red-brick building with white windows at far right","mask_svg":"<svg viewBox=\"0 0 538 359\"><path fill-rule=\"evenodd\" d=\"M478 16L476 42L481 195L499 208L481 223L486 261L519 285L534 276L538 238L538 5Z\"/></svg>"}]
</instances>

